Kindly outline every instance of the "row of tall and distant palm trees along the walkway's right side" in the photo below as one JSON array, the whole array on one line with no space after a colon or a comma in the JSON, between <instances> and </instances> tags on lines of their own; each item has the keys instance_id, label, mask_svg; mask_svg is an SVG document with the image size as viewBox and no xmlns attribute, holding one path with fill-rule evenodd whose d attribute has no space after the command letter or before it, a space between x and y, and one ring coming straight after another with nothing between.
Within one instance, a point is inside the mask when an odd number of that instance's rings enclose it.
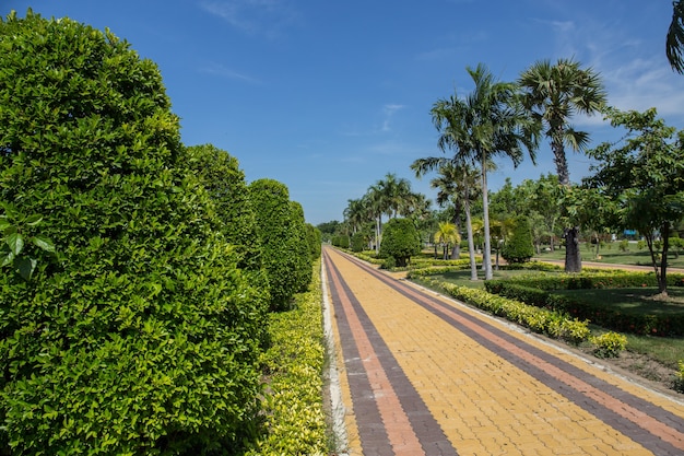
<instances>
[{"instance_id":1,"label":"row of tall and distant palm trees along the walkway's right side","mask_svg":"<svg viewBox=\"0 0 684 456\"><path fill-rule=\"evenodd\" d=\"M599 75L571 59L559 59L555 63L549 60L535 62L515 82L497 81L482 63L467 70L474 83L473 91L465 96L455 93L438 100L431 109L439 132L437 147L444 155L418 159L411 168L416 177L437 172L437 177L431 183L439 190L437 203L453 204L457 226L461 214L465 217L473 279L476 279L476 269L470 206L475 197L482 198L483 268L485 279L492 279L487 173L494 167L493 160L509 157L518 166L527 154L535 162L541 138L546 137L554 154L558 180L561 185L569 186L565 149L583 151L589 144L589 133L576 130L570 119L576 114L601 112L606 94ZM390 217L406 214L399 199L392 199L405 192L408 183L402 180L405 179L398 180L388 175L386 180L372 186L361 201L350 200L345 218L361 222L364 215L359 214L355 204L366 210L370 208L376 220L376 241L379 239L384 213ZM401 191L392 192L394 187ZM578 234L577 226L569 226L564 233L566 270L571 272L581 269Z\"/></svg>"}]
</instances>

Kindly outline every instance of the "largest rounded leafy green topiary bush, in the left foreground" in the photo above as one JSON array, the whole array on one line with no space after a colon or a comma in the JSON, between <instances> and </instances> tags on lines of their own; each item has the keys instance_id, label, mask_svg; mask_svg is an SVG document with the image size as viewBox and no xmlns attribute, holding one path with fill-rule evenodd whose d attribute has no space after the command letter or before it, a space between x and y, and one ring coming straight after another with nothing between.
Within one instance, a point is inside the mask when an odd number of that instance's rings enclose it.
<instances>
[{"instance_id":1,"label":"largest rounded leafy green topiary bush, in the left foreground","mask_svg":"<svg viewBox=\"0 0 684 456\"><path fill-rule=\"evenodd\" d=\"M0 276L0 454L229 451L256 416L266 299L179 162L156 66L8 16L0 152L0 201L57 250L30 252L31 281Z\"/></svg>"}]
</instances>

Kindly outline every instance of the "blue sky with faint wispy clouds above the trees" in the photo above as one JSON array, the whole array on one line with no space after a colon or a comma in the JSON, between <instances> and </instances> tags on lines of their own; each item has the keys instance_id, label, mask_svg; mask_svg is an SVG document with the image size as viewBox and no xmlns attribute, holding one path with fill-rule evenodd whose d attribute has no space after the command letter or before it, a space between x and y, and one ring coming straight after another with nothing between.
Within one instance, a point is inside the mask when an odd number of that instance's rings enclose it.
<instances>
[{"instance_id":1,"label":"blue sky with faint wispy clouds above the trees","mask_svg":"<svg viewBox=\"0 0 684 456\"><path fill-rule=\"evenodd\" d=\"M237 157L248 182L282 182L307 222L343 220L387 173L434 198L410 164L440 154L432 105L472 82L485 63L512 81L540 59L575 58L598 71L609 102L657 107L684 128L684 75L664 55L670 0L7 0L109 27L160 67L188 145ZM620 133L578 118L592 144ZM499 161L491 188L555 172L549 145L517 169ZM570 179L588 160L568 153Z\"/></svg>"}]
</instances>

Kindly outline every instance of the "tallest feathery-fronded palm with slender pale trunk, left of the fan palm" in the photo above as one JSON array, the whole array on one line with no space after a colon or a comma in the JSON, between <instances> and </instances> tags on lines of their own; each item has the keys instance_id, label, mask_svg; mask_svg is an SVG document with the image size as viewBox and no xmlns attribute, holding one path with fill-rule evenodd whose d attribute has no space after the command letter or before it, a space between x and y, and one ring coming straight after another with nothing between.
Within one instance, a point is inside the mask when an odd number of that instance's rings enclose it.
<instances>
[{"instance_id":1,"label":"tallest feathery-fronded palm with slender pale trunk, left of the fan palm","mask_svg":"<svg viewBox=\"0 0 684 456\"><path fill-rule=\"evenodd\" d=\"M452 149L463 161L479 162L482 178L484 210L484 270L485 280L492 279L490 217L487 198L487 162L494 155L510 157L517 166L523 149L532 160L536 150L536 125L517 103L516 85L495 81L482 63L467 68L475 87L464 100L452 95L433 105L433 122L440 132L437 145L443 151Z\"/></svg>"}]
</instances>

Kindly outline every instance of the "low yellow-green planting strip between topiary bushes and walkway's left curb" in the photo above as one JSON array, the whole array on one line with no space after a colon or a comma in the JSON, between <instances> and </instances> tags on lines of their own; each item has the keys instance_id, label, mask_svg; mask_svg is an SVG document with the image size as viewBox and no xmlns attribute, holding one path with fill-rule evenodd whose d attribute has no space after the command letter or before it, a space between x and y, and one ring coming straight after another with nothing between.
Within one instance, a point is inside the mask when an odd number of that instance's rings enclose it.
<instances>
[{"instance_id":1,"label":"low yellow-green planting strip between topiary bushes and walkway's left curb","mask_svg":"<svg viewBox=\"0 0 684 456\"><path fill-rule=\"evenodd\" d=\"M261 404L266 421L259 439L248 444L246 456L329 454L319 270L317 260L308 291L295 296L295 309L269 316L272 344L261 359L267 384Z\"/></svg>"}]
</instances>

